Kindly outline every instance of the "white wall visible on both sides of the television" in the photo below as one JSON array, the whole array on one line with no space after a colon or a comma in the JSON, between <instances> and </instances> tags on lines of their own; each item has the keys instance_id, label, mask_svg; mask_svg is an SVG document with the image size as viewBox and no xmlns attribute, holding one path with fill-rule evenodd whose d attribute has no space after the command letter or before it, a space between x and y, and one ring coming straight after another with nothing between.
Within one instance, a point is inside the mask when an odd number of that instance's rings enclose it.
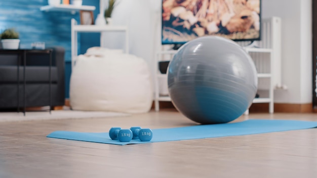
<instances>
[{"instance_id":1,"label":"white wall visible on both sides of the television","mask_svg":"<svg viewBox=\"0 0 317 178\"><path fill-rule=\"evenodd\" d=\"M288 90L276 90L276 103L312 102L312 0L262 0L262 17L282 18L282 82ZM144 58L153 68L154 51L160 43L161 1L121 0L113 23L128 25L130 53ZM108 34L110 48L122 48L123 36Z\"/></svg>"}]
</instances>

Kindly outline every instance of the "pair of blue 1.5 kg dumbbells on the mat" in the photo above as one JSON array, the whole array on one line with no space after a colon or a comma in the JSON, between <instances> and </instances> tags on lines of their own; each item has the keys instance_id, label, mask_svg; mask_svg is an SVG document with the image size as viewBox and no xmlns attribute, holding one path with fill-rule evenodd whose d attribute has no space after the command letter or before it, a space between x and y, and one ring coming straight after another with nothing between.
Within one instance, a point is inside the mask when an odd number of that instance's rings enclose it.
<instances>
[{"instance_id":1,"label":"pair of blue 1.5 kg dumbbells on the mat","mask_svg":"<svg viewBox=\"0 0 317 178\"><path fill-rule=\"evenodd\" d=\"M142 142L147 142L152 139L153 132L149 128L141 128L139 126L131 127L130 129L112 127L109 130L109 137L120 142L130 142L132 139L140 139Z\"/></svg>"}]
</instances>

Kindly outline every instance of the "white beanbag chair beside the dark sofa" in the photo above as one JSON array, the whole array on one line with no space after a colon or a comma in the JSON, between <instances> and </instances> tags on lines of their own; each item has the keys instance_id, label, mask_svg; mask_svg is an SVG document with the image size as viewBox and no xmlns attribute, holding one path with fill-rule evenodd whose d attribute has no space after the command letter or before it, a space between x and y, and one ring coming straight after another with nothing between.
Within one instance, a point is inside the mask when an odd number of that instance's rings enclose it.
<instances>
[{"instance_id":1,"label":"white beanbag chair beside the dark sofa","mask_svg":"<svg viewBox=\"0 0 317 178\"><path fill-rule=\"evenodd\" d=\"M69 90L73 110L144 113L153 101L147 63L134 55L99 47L78 56Z\"/></svg>"}]
</instances>

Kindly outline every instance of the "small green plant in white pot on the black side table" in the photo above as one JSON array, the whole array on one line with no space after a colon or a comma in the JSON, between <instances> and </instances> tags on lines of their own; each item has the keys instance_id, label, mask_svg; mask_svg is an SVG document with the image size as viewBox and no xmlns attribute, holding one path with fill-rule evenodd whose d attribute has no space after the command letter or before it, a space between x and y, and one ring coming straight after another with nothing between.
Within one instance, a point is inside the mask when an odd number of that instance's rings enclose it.
<instances>
[{"instance_id":1,"label":"small green plant in white pot on the black side table","mask_svg":"<svg viewBox=\"0 0 317 178\"><path fill-rule=\"evenodd\" d=\"M0 34L2 48L8 50L19 49L19 33L13 28L8 28Z\"/></svg>"}]
</instances>

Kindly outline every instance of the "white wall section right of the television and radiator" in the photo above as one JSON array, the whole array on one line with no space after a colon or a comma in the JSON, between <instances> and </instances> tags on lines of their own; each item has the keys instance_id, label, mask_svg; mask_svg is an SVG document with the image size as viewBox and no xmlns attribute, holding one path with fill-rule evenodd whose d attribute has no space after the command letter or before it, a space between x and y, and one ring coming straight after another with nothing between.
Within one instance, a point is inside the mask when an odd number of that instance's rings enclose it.
<instances>
[{"instance_id":1,"label":"white wall section right of the television and radiator","mask_svg":"<svg viewBox=\"0 0 317 178\"><path fill-rule=\"evenodd\" d=\"M276 103L312 102L311 0L262 0L262 17L282 18L282 82Z\"/></svg>"}]
</instances>

